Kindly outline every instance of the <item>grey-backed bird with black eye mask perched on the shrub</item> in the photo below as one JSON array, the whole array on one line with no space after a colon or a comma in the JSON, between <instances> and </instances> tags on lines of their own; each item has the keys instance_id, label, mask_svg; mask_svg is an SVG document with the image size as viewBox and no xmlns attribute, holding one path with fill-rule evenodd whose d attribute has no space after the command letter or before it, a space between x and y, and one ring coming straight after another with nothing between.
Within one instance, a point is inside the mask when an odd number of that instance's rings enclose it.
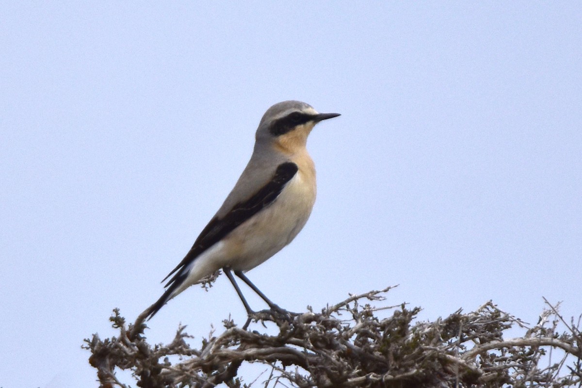
<instances>
[{"instance_id":1,"label":"grey-backed bird with black eye mask perched on the shrub","mask_svg":"<svg viewBox=\"0 0 582 388\"><path fill-rule=\"evenodd\" d=\"M232 272L271 308L281 310L244 274L288 245L307 222L317 191L307 137L315 124L340 116L288 100L269 107L255 132L253 153L222 206L183 260L162 280L165 292L140 316L151 319L173 297L221 270L249 303Z\"/></svg>"}]
</instances>

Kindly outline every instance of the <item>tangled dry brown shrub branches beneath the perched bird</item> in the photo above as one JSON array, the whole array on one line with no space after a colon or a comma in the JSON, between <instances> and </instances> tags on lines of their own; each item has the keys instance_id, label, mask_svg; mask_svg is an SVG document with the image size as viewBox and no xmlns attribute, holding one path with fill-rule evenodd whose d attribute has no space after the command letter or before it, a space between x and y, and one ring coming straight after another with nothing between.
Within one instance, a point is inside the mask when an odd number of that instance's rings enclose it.
<instances>
[{"instance_id":1,"label":"tangled dry brown shrub branches beneath the perched bird","mask_svg":"<svg viewBox=\"0 0 582 388\"><path fill-rule=\"evenodd\" d=\"M183 326L171 343L148 344L143 321L127 327L115 309L110 319L119 336L101 340L95 334L84 347L91 351L89 362L102 388L129 388L116 378L120 369L132 371L144 388L261 384L253 378L243 384L246 379L238 374L243 362L268 365L272 372L262 382L265 387L582 386L580 322L567 325L547 301L549 309L531 328L491 301L468 314L458 310L445 319L413 324L420 308L365 303L384 300L389 289L350 296L321 312L308 308L282 316L264 310L251 317L255 324L274 322L274 334L225 320L224 332L211 333L199 349L187 342L192 337ZM394 310L391 317L375 315L386 308ZM560 322L567 332L558 333ZM514 325L527 328L524 337L503 339ZM544 367L548 350L560 356ZM172 364L169 355L180 356L179 362Z\"/></svg>"}]
</instances>

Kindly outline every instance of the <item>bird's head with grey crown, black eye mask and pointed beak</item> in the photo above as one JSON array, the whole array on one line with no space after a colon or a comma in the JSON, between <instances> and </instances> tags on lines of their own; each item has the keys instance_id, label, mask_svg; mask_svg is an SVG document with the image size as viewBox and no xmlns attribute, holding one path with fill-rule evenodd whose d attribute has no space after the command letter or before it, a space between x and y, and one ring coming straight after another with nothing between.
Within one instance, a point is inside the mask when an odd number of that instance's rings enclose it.
<instances>
[{"instance_id":1,"label":"bird's head with grey crown, black eye mask and pointed beak","mask_svg":"<svg viewBox=\"0 0 582 388\"><path fill-rule=\"evenodd\" d=\"M304 148L315 124L339 113L318 113L301 101L283 101L267 109L258 124L257 142L267 142L285 153Z\"/></svg>"}]
</instances>

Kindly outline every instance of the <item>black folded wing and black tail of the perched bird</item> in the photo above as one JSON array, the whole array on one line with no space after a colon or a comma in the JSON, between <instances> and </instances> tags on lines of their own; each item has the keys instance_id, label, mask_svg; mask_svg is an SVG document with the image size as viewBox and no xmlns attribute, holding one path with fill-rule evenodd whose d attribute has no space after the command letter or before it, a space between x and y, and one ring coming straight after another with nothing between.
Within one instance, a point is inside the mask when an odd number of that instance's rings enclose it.
<instances>
[{"instance_id":1,"label":"black folded wing and black tail of the perched bird","mask_svg":"<svg viewBox=\"0 0 582 388\"><path fill-rule=\"evenodd\" d=\"M271 180L262 186L253 196L244 202L237 203L224 217L214 217L208 222L208 225L200 233L190 251L180 261L180 264L162 280L164 282L173 275L165 285L167 289L162 297L150 307L150 314L148 314L150 318L164 306L173 290L178 288L184 279L186 279L187 273L180 270L196 260L201 253L222 240L244 221L249 220L254 214L269 206L281 194L285 185L297 174L297 170L299 168L295 163L286 162L279 164Z\"/></svg>"}]
</instances>

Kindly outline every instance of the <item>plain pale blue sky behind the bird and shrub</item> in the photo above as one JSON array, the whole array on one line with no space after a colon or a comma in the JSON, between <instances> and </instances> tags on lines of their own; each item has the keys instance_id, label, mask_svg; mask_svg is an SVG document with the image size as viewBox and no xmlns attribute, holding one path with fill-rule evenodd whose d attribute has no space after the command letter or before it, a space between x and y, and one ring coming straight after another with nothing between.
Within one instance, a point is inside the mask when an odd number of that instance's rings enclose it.
<instances>
[{"instance_id":1,"label":"plain pale blue sky behind the bird and shrub","mask_svg":"<svg viewBox=\"0 0 582 388\"><path fill-rule=\"evenodd\" d=\"M249 272L276 303L582 312L579 2L1 6L0 386L97 386L83 338L159 297L286 99L342 116L308 142L306 228ZM229 314L221 278L148 339Z\"/></svg>"}]
</instances>

